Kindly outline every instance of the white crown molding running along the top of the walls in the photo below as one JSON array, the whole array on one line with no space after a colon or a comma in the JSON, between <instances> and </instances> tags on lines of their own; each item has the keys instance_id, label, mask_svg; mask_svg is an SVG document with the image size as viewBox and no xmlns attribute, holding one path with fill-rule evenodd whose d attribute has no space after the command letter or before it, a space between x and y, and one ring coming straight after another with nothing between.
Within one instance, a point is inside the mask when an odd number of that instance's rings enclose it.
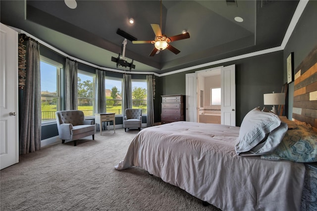
<instances>
[{"instance_id":1,"label":"white crown molding running along the top of the walls","mask_svg":"<svg viewBox=\"0 0 317 211\"><path fill-rule=\"evenodd\" d=\"M196 66L192 66L192 67L187 67L187 68L183 68L183 69L179 69L179 70L175 70L175 71L171 71L171 72L163 73L163 74L157 74L157 73L153 73L153 72L135 72L135 71L131 71L131 72L129 71L128 73L129 74L141 74L141 75L153 74L155 76L162 77L162 76L168 76L168 75L181 73L181 72L185 72L185 71L189 71L189 70L194 70L194 69L198 69L198 68L203 68L203 67L207 67L207 66L211 66L211 65L215 65L215 64L220 64L220 63L224 63L224 62L230 62L230 61L234 61L234 60L237 60L237 59L244 59L244 58L248 58L248 57L252 57L252 56L262 55L262 54L265 54L265 53L271 53L271 52L275 52L275 51L279 51L279 50L284 50L289 38L291 37L291 35L292 35L292 33L293 33L294 29L295 29L295 26L296 26L298 20L300 19L301 15L303 14L303 11L304 11L308 1L309 0L300 0L299 1L298 5L297 5L297 8L296 8L296 10L294 12L294 15L292 17L292 20L291 20L291 22L290 22L290 24L289 24L289 26L287 28L287 31L285 33L284 39L283 39L283 41L282 41L280 46L273 47L273 48L268 48L268 49L264 49L264 50L260 50L260 51L256 51L256 52L252 52L252 53L246 53L246 54L242 54L242 55L239 55L239 56L233 56L233 57L229 57L229 58L225 58L225 59L220 59L220 60L217 60L217 61L212 61L212 62L209 62L209 63L200 64L200 65L196 65ZM89 66L92 66L92 67L95 67L95 68L101 69L101 70L112 71L112 72L117 72L117 73L127 73L124 70L116 70L116 69L112 69L112 68L101 67L101 66L92 64L90 62L87 62L87 61L72 57L72 56L66 54L65 52L53 47L49 43L41 41L40 39L34 37L33 35L25 32L25 31L23 31L21 29L17 29L17 28L14 28L14 27L10 27L10 28L12 28L13 30L17 31L20 34L25 34L28 37L33 38L34 40L36 40L39 43L43 44L44 46L54 50L55 52L65 56L65 57L68 57L70 59L76 60L76 61L78 61L80 63L86 64L86 65L89 65Z\"/></svg>"}]
</instances>

